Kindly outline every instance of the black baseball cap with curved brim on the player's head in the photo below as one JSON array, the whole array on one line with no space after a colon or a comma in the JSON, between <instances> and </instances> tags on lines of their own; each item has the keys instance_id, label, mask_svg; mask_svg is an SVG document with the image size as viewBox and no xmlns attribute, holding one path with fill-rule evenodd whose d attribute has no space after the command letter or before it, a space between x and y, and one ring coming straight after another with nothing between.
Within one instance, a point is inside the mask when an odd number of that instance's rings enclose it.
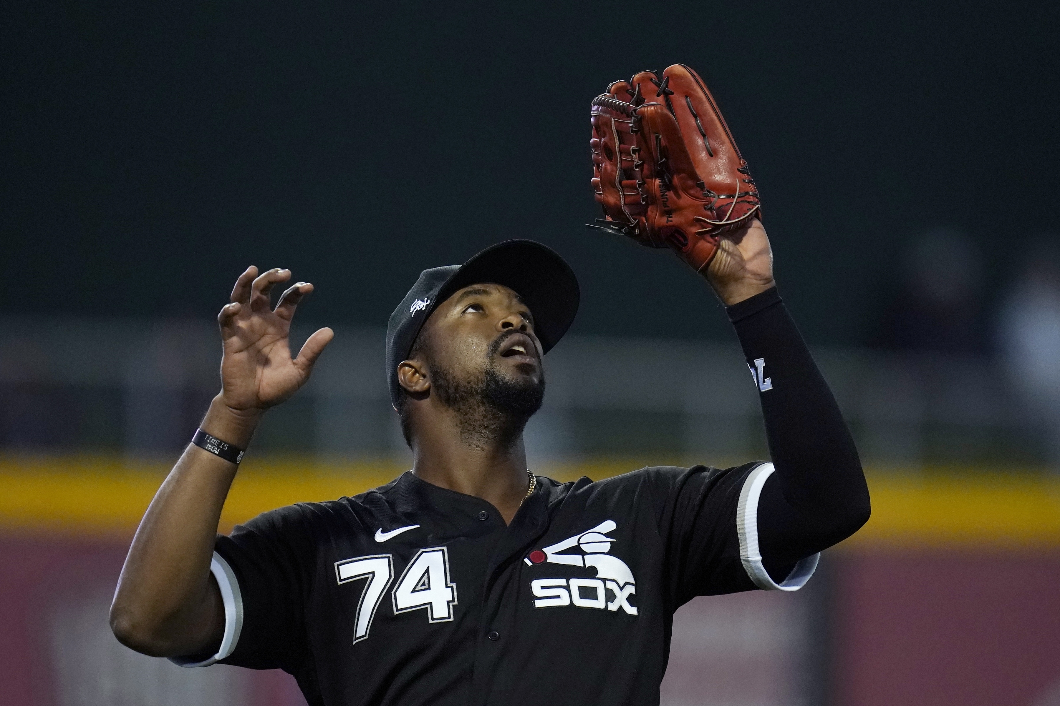
<instances>
[{"instance_id":1,"label":"black baseball cap with curved brim on the player's head","mask_svg":"<svg viewBox=\"0 0 1060 706\"><path fill-rule=\"evenodd\" d=\"M506 240L463 265L424 270L387 324L387 381L394 405L401 395L398 364L408 358L427 318L457 290L491 282L526 302L544 352L559 343L578 313L581 294L575 271L554 250L533 240Z\"/></svg>"}]
</instances>

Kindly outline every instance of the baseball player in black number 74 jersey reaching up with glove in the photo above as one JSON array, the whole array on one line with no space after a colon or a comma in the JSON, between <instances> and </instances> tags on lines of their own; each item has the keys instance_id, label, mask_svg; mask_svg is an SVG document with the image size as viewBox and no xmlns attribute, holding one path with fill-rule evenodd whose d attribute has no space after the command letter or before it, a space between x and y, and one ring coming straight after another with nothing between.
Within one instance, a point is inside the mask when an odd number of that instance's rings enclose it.
<instances>
[{"instance_id":1,"label":"baseball player in black number 74 jersey reaching up with glove","mask_svg":"<svg viewBox=\"0 0 1060 706\"><path fill-rule=\"evenodd\" d=\"M283 669L311 706L656 704L678 607L795 591L866 522L856 450L777 294L757 188L702 79L675 66L619 82L594 101L593 130L599 228L674 250L712 286L772 463L535 474L523 429L579 288L556 253L510 240L425 270L390 316L386 376L412 469L216 536L254 428L333 336L293 357L313 286L271 308L292 273L251 267L218 316L222 391L129 549L120 640L190 667Z\"/></svg>"}]
</instances>

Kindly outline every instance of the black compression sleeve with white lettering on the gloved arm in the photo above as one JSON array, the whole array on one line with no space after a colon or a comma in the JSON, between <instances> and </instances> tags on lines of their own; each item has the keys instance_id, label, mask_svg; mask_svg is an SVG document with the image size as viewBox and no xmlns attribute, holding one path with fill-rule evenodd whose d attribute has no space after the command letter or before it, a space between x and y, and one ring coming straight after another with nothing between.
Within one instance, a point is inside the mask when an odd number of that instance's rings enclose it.
<instances>
[{"instance_id":1,"label":"black compression sleeve with white lettering on the gloved arm","mask_svg":"<svg viewBox=\"0 0 1060 706\"><path fill-rule=\"evenodd\" d=\"M776 471L758 506L767 569L790 566L868 521L858 450L776 287L726 309L755 374Z\"/></svg>"}]
</instances>

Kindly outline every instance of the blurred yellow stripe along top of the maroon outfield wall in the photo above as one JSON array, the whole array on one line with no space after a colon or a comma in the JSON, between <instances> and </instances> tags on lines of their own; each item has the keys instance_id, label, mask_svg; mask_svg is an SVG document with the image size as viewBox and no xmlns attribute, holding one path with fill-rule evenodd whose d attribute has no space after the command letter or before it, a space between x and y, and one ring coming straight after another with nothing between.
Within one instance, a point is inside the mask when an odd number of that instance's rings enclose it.
<instances>
[{"instance_id":1,"label":"blurred yellow stripe along top of the maroon outfield wall","mask_svg":"<svg viewBox=\"0 0 1060 706\"><path fill-rule=\"evenodd\" d=\"M570 464L547 475L602 478L636 468L621 460ZM169 470L108 458L0 458L0 527L68 535L128 533ZM355 495L405 470L389 460L301 463L255 459L241 469L222 527L302 501ZM1060 545L1060 481L953 469L869 472L872 519L845 544L858 546Z\"/></svg>"}]
</instances>

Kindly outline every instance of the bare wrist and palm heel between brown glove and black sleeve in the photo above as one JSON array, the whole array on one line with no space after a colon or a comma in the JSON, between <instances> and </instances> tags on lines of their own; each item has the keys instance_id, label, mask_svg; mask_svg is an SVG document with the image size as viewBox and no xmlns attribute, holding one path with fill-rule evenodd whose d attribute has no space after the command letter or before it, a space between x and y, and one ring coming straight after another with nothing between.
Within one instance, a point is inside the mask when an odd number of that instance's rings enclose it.
<instances>
[{"instance_id":1,"label":"bare wrist and palm heel between brown glove and black sleeve","mask_svg":"<svg viewBox=\"0 0 1060 706\"><path fill-rule=\"evenodd\" d=\"M773 250L761 221L755 218L746 227L722 235L706 275L725 306L773 287Z\"/></svg>"}]
</instances>

